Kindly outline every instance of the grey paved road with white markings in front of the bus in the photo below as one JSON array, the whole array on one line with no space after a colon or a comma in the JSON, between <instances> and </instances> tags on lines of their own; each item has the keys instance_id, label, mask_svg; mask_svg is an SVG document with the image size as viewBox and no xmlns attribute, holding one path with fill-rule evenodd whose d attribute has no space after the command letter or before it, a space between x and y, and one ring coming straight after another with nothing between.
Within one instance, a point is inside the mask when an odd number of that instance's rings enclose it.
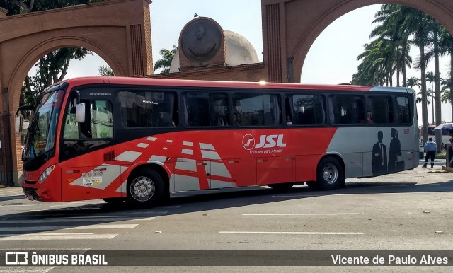
<instances>
[{"instance_id":1,"label":"grey paved road with white markings in front of the bus","mask_svg":"<svg viewBox=\"0 0 453 273\"><path fill-rule=\"evenodd\" d=\"M420 161L423 164L423 161ZM100 200L42 203L0 189L1 250L452 250L453 173L415 168L347 187L287 192L268 187L173 196L152 209ZM1 252L0 252L1 253ZM339 252L340 253L340 252ZM111 260L110 260L111 261ZM450 262L453 263L451 260ZM149 267L127 267L149 272ZM250 272L253 267L157 267L159 272ZM300 272L302 267L260 267ZM451 267L309 267L310 272L426 271ZM0 267L0 272L88 272L89 267ZM96 267L117 272L117 267ZM306 271L306 270L305 270Z\"/></svg>"}]
</instances>

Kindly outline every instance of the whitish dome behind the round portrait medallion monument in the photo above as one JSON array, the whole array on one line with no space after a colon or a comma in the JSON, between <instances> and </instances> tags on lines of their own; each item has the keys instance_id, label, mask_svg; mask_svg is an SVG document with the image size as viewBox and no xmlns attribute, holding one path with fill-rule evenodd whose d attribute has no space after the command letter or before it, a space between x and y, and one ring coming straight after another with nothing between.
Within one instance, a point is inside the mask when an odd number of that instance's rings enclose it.
<instances>
[{"instance_id":1,"label":"whitish dome behind the round portrait medallion monument","mask_svg":"<svg viewBox=\"0 0 453 273\"><path fill-rule=\"evenodd\" d=\"M246 37L224 30L225 33L225 63L226 66L240 64L256 64L259 61L255 48ZM179 50L171 61L170 73L179 72Z\"/></svg>"}]
</instances>

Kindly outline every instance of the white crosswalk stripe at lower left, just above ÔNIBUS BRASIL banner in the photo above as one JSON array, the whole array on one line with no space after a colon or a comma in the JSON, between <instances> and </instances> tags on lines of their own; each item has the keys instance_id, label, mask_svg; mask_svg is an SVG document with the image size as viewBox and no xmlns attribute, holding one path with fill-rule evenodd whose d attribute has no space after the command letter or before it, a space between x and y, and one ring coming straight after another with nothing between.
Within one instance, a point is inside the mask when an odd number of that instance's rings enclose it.
<instances>
[{"instance_id":1,"label":"white crosswalk stripe at lower left, just above \u00d4NIBUS BRASIL banner","mask_svg":"<svg viewBox=\"0 0 453 273\"><path fill-rule=\"evenodd\" d=\"M112 239L118 234L95 234L95 233L40 233L24 234L19 236L3 237L0 241L10 240L101 240Z\"/></svg>"}]
</instances>

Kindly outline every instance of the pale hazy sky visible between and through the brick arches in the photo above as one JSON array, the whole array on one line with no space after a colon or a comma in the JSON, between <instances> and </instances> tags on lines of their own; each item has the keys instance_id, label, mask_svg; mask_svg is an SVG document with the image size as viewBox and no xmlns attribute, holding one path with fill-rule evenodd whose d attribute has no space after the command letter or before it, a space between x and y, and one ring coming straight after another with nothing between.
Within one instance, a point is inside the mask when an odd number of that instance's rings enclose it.
<instances>
[{"instance_id":1,"label":"pale hazy sky visible between and through the brick arches","mask_svg":"<svg viewBox=\"0 0 453 273\"><path fill-rule=\"evenodd\" d=\"M263 61L260 0L153 0L150 8L154 62L161 57L160 49L171 49L173 45L178 45L180 31L193 19L194 13L210 17L225 30L246 37L255 47L260 61ZM380 5L359 8L331 23L319 35L307 54L302 68L302 83L350 82L352 74L360 64L357 55L363 52L363 45L369 42L369 33L374 28L374 13L379 11L379 8ZM417 49L413 48L413 59L418 55ZM105 62L98 56L86 57L81 62L71 62L67 77L95 76L98 74L99 65L105 65ZM428 66L427 71L434 71L433 64ZM447 59L441 60L440 71L441 77L447 77ZM411 69L407 76L420 78L420 72ZM442 106L442 120L449 120L451 117L449 108L449 105ZM430 105L428 109L430 110ZM418 112L421 120L420 108ZM431 122L430 112L428 111L428 120Z\"/></svg>"}]
</instances>

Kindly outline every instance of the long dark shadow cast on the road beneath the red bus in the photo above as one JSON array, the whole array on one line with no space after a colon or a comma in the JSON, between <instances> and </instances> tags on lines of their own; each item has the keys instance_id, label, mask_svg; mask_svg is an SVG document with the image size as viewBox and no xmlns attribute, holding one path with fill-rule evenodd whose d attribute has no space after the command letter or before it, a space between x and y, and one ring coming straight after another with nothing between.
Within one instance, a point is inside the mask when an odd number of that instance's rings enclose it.
<instances>
[{"instance_id":1,"label":"long dark shadow cast on the road beneath the red bus","mask_svg":"<svg viewBox=\"0 0 453 273\"><path fill-rule=\"evenodd\" d=\"M193 212L207 213L212 210L229 209L235 207L245 207L256 204L271 204L274 202L285 202L313 197L329 195L350 195L355 194L411 194L419 192L453 192L453 180L447 182L435 182L430 184L418 184L417 182L348 182L346 187L330 191L310 190L306 185L297 185L289 190L276 191L269 187L243 187L228 188L222 190L208 190L197 192L180 192L173 196L161 206L136 209L121 204L107 204L103 201L93 204L70 206L59 209L47 209L12 213L4 215L4 220L0 223L5 228L11 229L11 235L0 234L1 238L9 236L33 235L36 231L27 229L21 230L21 226L14 230L14 226L20 225L22 220L30 221L28 225L33 225L33 221L44 224L50 219L52 226L47 226L45 231L52 232L67 229L69 227L84 227L97 224L113 224L123 221L159 218L169 215L187 214ZM427 195L429 196L429 195ZM402 201L403 202L403 201ZM292 211L294 213L294 211ZM11 222L11 223L9 223ZM6 224L8 223L8 224ZM61 226L60 226L61 225ZM4 228L0 228L4 229Z\"/></svg>"}]
</instances>

